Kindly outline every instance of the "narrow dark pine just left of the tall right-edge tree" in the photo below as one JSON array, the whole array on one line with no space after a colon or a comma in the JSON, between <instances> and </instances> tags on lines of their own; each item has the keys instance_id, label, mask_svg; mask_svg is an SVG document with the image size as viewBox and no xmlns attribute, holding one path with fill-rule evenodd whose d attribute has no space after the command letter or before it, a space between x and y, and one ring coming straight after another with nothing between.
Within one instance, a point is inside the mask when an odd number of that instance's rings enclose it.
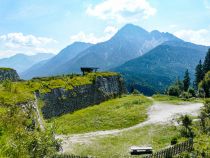
<instances>
[{"instance_id":1,"label":"narrow dark pine just left of the tall right-edge tree","mask_svg":"<svg viewBox=\"0 0 210 158\"><path fill-rule=\"evenodd\" d=\"M195 68L195 86L198 88L198 84L200 81L202 81L204 78L204 72L203 72L203 65L201 60L199 61L199 64Z\"/></svg>"}]
</instances>

